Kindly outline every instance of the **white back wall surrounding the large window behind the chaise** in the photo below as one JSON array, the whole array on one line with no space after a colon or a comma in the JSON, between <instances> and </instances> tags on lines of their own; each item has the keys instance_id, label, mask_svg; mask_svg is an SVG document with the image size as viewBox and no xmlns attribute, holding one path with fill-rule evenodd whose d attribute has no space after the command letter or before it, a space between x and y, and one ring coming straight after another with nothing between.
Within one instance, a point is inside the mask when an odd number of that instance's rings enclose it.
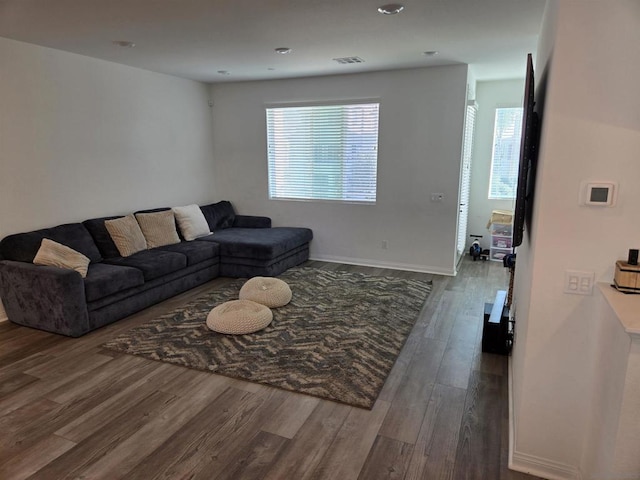
<instances>
[{"instance_id":1,"label":"white back wall surrounding the large window behind the chaise","mask_svg":"<svg viewBox=\"0 0 640 480\"><path fill-rule=\"evenodd\" d=\"M216 195L312 228L313 258L453 274L466 81L455 66L214 85ZM376 205L269 200L265 104L352 98L380 99Z\"/></svg>"}]
</instances>

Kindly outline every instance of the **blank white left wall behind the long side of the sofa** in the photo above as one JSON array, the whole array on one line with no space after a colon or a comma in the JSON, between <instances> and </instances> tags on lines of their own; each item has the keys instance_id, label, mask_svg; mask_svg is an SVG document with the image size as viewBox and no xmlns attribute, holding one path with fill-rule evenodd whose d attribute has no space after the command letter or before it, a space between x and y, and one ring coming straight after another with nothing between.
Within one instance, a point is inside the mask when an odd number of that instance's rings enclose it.
<instances>
[{"instance_id":1,"label":"blank white left wall behind the long side of the sofa","mask_svg":"<svg viewBox=\"0 0 640 480\"><path fill-rule=\"evenodd\" d=\"M0 238L207 201L208 86L0 38Z\"/></svg>"}]
</instances>

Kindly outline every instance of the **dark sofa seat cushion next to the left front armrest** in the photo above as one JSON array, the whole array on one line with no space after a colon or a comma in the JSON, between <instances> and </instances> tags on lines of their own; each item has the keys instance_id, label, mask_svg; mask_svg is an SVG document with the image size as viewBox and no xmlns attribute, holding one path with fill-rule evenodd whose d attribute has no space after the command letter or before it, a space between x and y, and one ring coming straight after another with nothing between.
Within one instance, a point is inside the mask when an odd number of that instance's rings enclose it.
<instances>
[{"instance_id":1,"label":"dark sofa seat cushion next to the left front armrest","mask_svg":"<svg viewBox=\"0 0 640 480\"><path fill-rule=\"evenodd\" d=\"M143 283L144 276L137 268L94 263L84 279L84 293L87 302L93 302Z\"/></svg>"}]
</instances>

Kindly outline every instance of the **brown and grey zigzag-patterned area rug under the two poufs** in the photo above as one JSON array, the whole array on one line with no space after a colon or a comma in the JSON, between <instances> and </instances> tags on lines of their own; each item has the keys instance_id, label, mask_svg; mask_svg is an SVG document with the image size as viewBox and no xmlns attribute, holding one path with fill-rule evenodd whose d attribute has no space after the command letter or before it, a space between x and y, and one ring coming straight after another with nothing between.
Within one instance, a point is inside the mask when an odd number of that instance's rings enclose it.
<instances>
[{"instance_id":1,"label":"brown and grey zigzag-patterned area rug under the two poufs","mask_svg":"<svg viewBox=\"0 0 640 480\"><path fill-rule=\"evenodd\" d=\"M372 408L431 282L309 267L279 278L293 299L262 331L222 335L205 324L214 306L238 298L238 279L104 347Z\"/></svg>"}]
</instances>

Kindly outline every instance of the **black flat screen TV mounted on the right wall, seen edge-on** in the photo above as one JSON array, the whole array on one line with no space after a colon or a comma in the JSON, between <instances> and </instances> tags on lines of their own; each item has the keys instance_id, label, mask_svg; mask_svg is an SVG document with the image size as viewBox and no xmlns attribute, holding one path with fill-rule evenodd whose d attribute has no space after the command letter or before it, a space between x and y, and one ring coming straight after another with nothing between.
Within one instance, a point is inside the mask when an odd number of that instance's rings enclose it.
<instances>
[{"instance_id":1,"label":"black flat screen TV mounted on the right wall, seen edge-on","mask_svg":"<svg viewBox=\"0 0 640 480\"><path fill-rule=\"evenodd\" d=\"M513 215L514 247L522 244L525 225L527 231L531 230L540 128L538 114L534 110L534 90L533 59L531 54L529 54L527 55L527 73L524 85L524 102L522 105L522 136L520 138L518 185L516 187L516 205Z\"/></svg>"}]
</instances>

